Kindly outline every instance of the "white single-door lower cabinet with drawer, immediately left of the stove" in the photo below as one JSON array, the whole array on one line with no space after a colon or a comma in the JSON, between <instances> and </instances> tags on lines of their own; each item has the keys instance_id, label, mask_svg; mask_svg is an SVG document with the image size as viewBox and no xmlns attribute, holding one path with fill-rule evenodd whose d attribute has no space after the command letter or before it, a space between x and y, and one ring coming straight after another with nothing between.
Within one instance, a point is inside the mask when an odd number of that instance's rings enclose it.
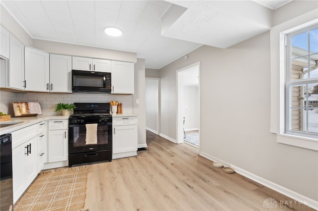
<instances>
[{"instance_id":1,"label":"white single-door lower cabinet with drawer, immediately left of the stove","mask_svg":"<svg viewBox=\"0 0 318 211\"><path fill-rule=\"evenodd\" d=\"M49 162L68 160L68 123L68 119L49 120Z\"/></svg>"}]
</instances>

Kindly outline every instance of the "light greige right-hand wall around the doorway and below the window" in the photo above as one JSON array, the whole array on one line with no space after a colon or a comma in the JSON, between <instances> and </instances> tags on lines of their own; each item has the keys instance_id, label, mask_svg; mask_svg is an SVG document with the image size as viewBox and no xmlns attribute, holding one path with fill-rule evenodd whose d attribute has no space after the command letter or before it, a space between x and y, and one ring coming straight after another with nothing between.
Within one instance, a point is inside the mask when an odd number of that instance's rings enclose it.
<instances>
[{"instance_id":1,"label":"light greige right-hand wall around the doorway and below the window","mask_svg":"<svg viewBox=\"0 0 318 211\"><path fill-rule=\"evenodd\" d=\"M298 6L289 5L289 14ZM176 104L176 70L200 61L200 154L317 203L318 152L277 143L270 133L270 33L188 56L160 69L162 135L176 139L176 107L167 106Z\"/></svg>"}]
</instances>

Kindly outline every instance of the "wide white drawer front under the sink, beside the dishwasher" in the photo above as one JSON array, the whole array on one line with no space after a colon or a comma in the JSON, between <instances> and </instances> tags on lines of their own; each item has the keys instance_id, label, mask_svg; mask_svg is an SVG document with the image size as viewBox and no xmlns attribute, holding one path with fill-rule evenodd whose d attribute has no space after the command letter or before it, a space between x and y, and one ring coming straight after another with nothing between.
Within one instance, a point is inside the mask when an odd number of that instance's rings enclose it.
<instances>
[{"instance_id":1,"label":"wide white drawer front under the sink, beside the dishwasher","mask_svg":"<svg viewBox=\"0 0 318 211\"><path fill-rule=\"evenodd\" d=\"M37 135L37 125L34 124L17 131L13 131L11 135L12 149L14 149Z\"/></svg>"}]
</instances>

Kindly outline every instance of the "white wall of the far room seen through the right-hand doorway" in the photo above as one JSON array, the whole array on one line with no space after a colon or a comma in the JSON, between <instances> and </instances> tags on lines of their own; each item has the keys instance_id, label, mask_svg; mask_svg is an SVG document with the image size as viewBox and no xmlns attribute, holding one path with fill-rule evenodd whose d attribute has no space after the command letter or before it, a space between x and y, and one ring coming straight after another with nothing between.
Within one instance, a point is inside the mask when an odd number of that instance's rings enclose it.
<instances>
[{"instance_id":1,"label":"white wall of the far room seen through the right-hand doorway","mask_svg":"<svg viewBox=\"0 0 318 211\"><path fill-rule=\"evenodd\" d=\"M199 87L183 86L184 130L199 129Z\"/></svg>"}]
</instances>

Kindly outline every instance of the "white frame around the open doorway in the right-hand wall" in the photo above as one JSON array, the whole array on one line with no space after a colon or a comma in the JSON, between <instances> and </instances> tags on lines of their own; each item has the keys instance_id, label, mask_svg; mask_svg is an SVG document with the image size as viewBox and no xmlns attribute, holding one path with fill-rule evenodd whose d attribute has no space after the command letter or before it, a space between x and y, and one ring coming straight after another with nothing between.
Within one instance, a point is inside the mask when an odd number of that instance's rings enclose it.
<instances>
[{"instance_id":1,"label":"white frame around the open doorway in the right-hand wall","mask_svg":"<svg viewBox=\"0 0 318 211\"><path fill-rule=\"evenodd\" d=\"M183 143L183 118L182 118L182 99L183 99L183 84L181 84L179 73L185 71L191 67L198 66L199 69L199 117L201 116L201 109L200 109L200 61L190 64L186 67L178 69L176 71L176 90L177 90L177 112L176 112L176 143L182 144ZM200 119L199 119L199 143L200 143ZM199 144L199 150L200 150Z\"/></svg>"}]
</instances>

